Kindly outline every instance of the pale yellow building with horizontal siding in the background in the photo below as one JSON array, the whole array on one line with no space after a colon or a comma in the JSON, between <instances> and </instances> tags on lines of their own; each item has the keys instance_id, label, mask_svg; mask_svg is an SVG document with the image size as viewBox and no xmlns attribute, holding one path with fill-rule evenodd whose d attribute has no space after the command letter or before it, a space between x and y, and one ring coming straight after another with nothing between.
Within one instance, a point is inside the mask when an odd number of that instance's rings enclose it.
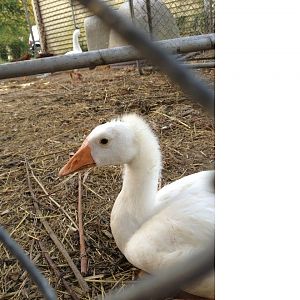
<instances>
[{"instance_id":1,"label":"pale yellow building with horizontal siding in the background","mask_svg":"<svg viewBox=\"0 0 300 300\"><path fill-rule=\"evenodd\" d=\"M126 1L106 1L115 9L124 2ZM210 20L214 18L214 0L164 2L174 16L181 36L214 32L214 21ZM81 31L79 39L81 47L84 51L87 50L84 19L92 14L85 7L74 0L32 0L32 5L43 51L64 54L72 50L72 34L75 26Z\"/></svg>"}]
</instances>

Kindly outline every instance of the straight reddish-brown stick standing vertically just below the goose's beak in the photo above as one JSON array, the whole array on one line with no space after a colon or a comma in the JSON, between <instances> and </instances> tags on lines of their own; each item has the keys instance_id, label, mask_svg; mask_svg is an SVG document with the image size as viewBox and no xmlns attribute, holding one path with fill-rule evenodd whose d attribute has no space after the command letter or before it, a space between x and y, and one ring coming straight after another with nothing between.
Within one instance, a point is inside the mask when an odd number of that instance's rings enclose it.
<instances>
[{"instance_id":1,"label":"straight reddish-brown stick standing vertically just below the goose's beak","mask_svg":"<svg viewBox=\"0 0 300 300\"><path fill-rule=\"evenodd\" d=\"M81 173L78 173L78 229L79 229L79 245L80 245L80 270L82 274L88 271L88 258L85 250L84 229L82 221L82 183Z\"/></svg>"}]
</instances>

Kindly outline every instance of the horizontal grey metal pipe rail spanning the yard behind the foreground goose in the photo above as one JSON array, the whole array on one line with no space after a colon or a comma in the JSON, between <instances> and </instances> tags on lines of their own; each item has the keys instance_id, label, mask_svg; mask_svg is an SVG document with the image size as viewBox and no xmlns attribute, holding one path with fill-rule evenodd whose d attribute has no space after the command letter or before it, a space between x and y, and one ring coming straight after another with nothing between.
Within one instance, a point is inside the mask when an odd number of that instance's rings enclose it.
<instances>
[{"instance_id":1,"label":"horizontal grey metal pipe rail spanning the yard behind the foreground goose","mask_svg":"<svg viewBox=\"0 0 300 300\"><path fill-rule=\"evenodd\" d=\"M191 52L214 47L214 35L203 35L177 38L156 42L169 53ZM90 66L99 66L137 60L142 58L132 46L123 46L111 49L88 51L73 55L60 55L20 61L0 65L0 79L28 76L42 73L54 73Z\"/></svg>"}]
</instances>

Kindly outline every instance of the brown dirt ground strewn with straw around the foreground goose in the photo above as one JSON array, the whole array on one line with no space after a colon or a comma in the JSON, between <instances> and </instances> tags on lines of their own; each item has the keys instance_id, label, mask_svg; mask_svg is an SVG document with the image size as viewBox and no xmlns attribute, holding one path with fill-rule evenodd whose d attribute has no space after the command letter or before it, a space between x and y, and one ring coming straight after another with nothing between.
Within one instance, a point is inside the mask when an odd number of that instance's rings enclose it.
<instances>
[{"instance_id":1,"label":"brown dirt ground strewn with straw around the foreground goose","mask_svg":"<svg viewBox=\"0 0 300 300\"><path fill-rule=\"evenodd\" d=\"M159 72L140 76L135 68L97 67L69 73L0 81L0 224L24 248L57 290L70 299L64 278L80 299L105 295L134 279L136 269L117 249L109 219L122 184L119 166L94 168L84 175L83 222L88 256L84 296L74 272L41 223L49 226L80 270L78 175L58 178L59 169L98 124L119 114L145 117L161 143L162 185L214 168L214 125ZM198 71L213 88L214 70ZM26 171L28 169L28 174ZM40 213L34 206L29 181ZM61 273L53 269L39 241ZM37 299L37 287L0 245L0 299Z\"/></svg>"}]
</instances>

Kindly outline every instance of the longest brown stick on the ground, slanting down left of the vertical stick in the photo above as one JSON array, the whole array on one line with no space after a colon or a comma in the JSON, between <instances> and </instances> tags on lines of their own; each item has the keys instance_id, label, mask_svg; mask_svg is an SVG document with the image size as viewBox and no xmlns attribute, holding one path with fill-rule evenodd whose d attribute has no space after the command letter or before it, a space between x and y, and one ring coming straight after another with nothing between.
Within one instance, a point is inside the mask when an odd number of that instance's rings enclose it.
<instances>
[{"instance_id":1,"label":"longest brown stick on the ground, slanting down left of the vertical stick","mask_svg":"<svg viewBox=\"0 0 300 300\"><path fill-rule=\"evenodd\" d=\"M54 244L56 245L58 250L61 252L61 254L64 256L64 258L66 259L68 265L70 266L70 268L72 269L75 277L77 278L80 287L82 288L84 293L87 293L89 291L88 284L85 282L84 278L82 277L81 273L77 269L76 265L74 264L72 258L69 255L69 253L66 251L63 244L60 242L60 240L58 239L58 237L56 236L56 234L54 233L54 231L50 227L49 223L43 218L43 214L42 214L42 212L39 208L39 205L37 204L37 201L36 201L37 198L36 198L36 196L34 194L34 191L32 189L32 184L31 184L30 175L29 175L29 164L28 164L27 160L25 160L25 167L26 167L26 172L27 172L28 187L29 187L32 199L33 199L33 205L34 205L34 208L36 210L36 214L39 217L39 220L41 221L43 226L45 227L46 231L48 232L50 238L52 239L52 241L54 242Z\"/></svg>"}]
</instances>

